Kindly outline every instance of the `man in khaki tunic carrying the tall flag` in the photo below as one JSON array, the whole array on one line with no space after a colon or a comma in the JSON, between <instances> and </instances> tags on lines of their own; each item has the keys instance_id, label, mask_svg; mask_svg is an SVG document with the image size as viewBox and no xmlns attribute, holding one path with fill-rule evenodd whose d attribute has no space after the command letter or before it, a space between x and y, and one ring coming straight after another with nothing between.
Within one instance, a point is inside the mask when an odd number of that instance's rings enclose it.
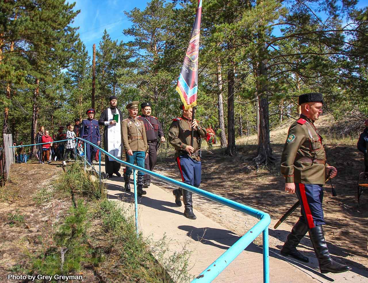
<instances>
[{"instance_id":1,"label":"man in khaki tunic carrying the tall flag","mask_svg":"<svg viewBox=\"0 0 368 283\"><path fill-rule=\"evenodd\" d=\"M175 159L181 174L183 183L199 187L201 184L201 160L198 155L198 141L207 135L206 128L198 125L196 120L192 121L192 108L184 109L181 117L177 117L171 122L169 129L169 142L174 146ZM194 128L193 146L190 145L191 129ZM183 196L185 206L184 216L189 219L196 219L193 213L192 192L184 189L173 190L175 203L181 206L180 197Z\"/></svg>"}]
</instances>

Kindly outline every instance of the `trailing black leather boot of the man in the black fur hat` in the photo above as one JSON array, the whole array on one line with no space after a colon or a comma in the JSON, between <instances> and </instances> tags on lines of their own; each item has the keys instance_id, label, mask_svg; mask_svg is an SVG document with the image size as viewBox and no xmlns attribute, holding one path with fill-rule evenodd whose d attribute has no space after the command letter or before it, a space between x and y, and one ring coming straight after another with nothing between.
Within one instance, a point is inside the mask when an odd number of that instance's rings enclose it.
<instances>
[{"instance_id":1,"label":"trailing black leather boot of the man in the black fur hat","mask_svg":"<svg viewBox=\"0 0 368 283\"><path fill-rule=\"evenodd\" d=\"M286 242L281 249L281 254L283 256L291 256L292 258L302 262L309 262L309 259L297 250L297 245L300 243L307 231L307 224L300 220L296 222L293 229L291 229L291 233L287 236Z\"/></svg>"}]
</instances>

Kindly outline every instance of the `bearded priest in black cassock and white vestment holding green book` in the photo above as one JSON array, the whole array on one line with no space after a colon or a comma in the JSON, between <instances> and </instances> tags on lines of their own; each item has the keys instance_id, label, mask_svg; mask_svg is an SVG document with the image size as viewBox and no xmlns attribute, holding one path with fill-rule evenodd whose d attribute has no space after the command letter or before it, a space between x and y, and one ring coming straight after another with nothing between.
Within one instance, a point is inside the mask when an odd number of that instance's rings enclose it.
<instances>
[{"instance_id":1,"label":"bearded priest in black cassock and white vestment holding green book","mask_svg":"<svg viewBox=\"0 0 368 283\"><path fill-rule=\"evenodd\" d=\"M110 96L110 107L103 110L100 119L98 120L99 125L104 125L103 130L103 149L115 156L117 159L121 159L121 121L123 115L121 111L116 108L117 97ZM105 155L105 171L111 178L113 173L120 177L119 173L120 163L116 162L115 159Z\"/></svg>"}]
</instances>

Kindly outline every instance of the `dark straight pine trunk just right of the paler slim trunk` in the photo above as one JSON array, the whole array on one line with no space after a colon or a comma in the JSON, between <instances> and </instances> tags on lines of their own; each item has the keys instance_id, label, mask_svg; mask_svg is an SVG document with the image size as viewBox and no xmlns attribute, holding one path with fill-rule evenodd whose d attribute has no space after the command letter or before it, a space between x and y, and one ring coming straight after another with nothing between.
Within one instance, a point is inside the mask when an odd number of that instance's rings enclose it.
<instances>
[{"instance_id":1,"label":"dark straight pine trunk just right of the paler slim trunk","mask_svg":"<svg viewBox=\"0 0 368 283\"><path fill-rule=\"evenodd\" d=\"M231 68L227 72L227 149L226 154L234 156L237 154L235 146L235 119L234 119L234 85L235 72L234 62L231 62Z\"/></svg>"}]
</instances>

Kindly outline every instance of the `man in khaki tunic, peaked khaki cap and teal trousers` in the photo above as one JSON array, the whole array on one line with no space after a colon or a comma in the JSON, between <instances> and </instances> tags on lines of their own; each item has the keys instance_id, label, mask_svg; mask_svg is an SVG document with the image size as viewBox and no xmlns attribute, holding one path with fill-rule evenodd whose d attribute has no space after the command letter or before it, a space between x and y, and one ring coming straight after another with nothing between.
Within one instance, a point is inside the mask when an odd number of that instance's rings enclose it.
<instances>
[{"instance_id":1,"label":"man in khaki tunic, peaked khaki cap and teal trousers","mask_svg":"<svg viewBox=\"0 0 368 283\"><path fill-rule=\"evenodd\" d=\"M141 120L137 119L139 101L129 103L126 108L129 111L129 118L121 122L121 134L123 137L123 145L127 162L134 164L137 162L139 167L144 168L144 161L148 155L148 145L146 131ZM124 189L130 191L130 175L132 168L127 167L124 172ZM137 177L137 194L142 196L146 194L143 188L144 173L138 171Z\"/></svg>"}]
</instances>

